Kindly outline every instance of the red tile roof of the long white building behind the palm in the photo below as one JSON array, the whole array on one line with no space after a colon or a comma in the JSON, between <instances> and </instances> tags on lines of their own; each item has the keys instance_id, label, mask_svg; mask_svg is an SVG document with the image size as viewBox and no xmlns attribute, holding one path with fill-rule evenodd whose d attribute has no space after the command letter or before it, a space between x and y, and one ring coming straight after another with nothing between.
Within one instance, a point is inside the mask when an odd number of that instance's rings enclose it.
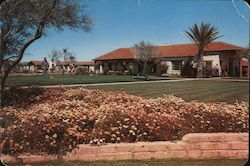
<instances>
[{"instance_id":1,"label":"red tile roof of the long white building behind the palm","mask_svg":"<svg viewBox=\"0 0 250 166\"><path fill-rule=\"evenodd\" d=\"M156 46L157 57L187 57L197 55L197 47L195 44L175 44ZM228 44L225 42L213 42L205 51L227 51L241 50L242 47ZM134 59L132 48L119 48L107 54L97 57L95 60L115 60L115 59Z\"/></svg>"}]
</instances>

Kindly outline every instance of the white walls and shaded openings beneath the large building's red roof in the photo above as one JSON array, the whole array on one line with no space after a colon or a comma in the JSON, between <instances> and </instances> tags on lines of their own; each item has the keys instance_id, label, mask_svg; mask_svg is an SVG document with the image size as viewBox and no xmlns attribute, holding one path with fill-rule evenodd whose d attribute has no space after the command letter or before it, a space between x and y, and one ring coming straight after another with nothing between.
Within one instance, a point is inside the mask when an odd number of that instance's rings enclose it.
<instances>
[{"instance_id":1,"label":"white walls and shaded openings beneath the large building's red roof","mask_svg":"<svg viewBox=\"0 0 250 166\"><path fill-rule=\"evenodd\" d=\"M237 52L233 51L225 51L225 52L209 52L209 55L204 55L203 60L204 61L210 61L211 62L211 69L212 73L209 74L209 76L228 76L231 71L231 75L229 76L239 76L239 55ZM181 70L175 70L173 68L173 61L180 61L182 63L182 66L184 65L185 61L188 60L190 57L167 57L161 59L161 64L165 64L168 66L168 70L166 74L169 75L181 75ZM110 61L100 61L101 66L98 67L97 73L105 74L105 65L109 68L109 70L115 70L115 64L122 63L122 62L128 62L132 66L132 74L138 75L141 72L141 68L136 60L110 60ZM110 65L109 65L110 64ZM156 66L156 73L161 73L161 64L157 64ZM227 73L226 75L222 75L222 67L224 65L227 66ZM103 72L100 71L101 67L103 68ZM230 67L230 69L229 69ZM218 69L218 72L217 72ZM229 71L230 70L230 71ZM209 67L209 73L210 73L210 67ZM225 73L225 72L224 72ZM159 74L160 75L160 74Z\"/></svg>"}]
</instances>

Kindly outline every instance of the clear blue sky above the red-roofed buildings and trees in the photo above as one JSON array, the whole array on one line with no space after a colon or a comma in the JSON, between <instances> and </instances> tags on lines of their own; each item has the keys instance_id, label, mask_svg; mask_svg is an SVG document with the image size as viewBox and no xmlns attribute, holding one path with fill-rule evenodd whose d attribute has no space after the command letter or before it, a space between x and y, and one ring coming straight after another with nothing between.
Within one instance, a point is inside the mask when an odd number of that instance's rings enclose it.
<instances>
[{"instance_id":1,"label":"clear blue sky above the red-roofed buildings and trees","mask_svg":"<svg viewBox=\"0 0 250 166\"><path fill-rule=\"evenodd\" d=\"M22 61L42 60L53 49L67 48L78 61L90 61L140 41L153 45L191 43L184 31L210 23L223 41L246 47L249 41L248 6L243 0L81 0L94 19L90 33L49 30L35 41Z\"/></svg>"}]
</instances>

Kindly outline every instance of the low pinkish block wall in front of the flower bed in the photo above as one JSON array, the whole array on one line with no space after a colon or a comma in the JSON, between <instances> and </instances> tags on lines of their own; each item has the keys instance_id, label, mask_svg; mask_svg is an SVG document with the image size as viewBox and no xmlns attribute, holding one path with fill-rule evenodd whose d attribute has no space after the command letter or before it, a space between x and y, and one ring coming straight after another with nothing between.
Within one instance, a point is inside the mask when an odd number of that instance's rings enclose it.
<instances>
[{"instance_id":1,"label":"low pinkish block wall in front of the flower bed","mask_svg":"<svg viewBox=\"0 0 250 166\"><path fill-rule=\"evenodd\" d=\"M190 133L181 141L80 145L63 160L247 159L248 133ZM52 156L19 156L25 163L55 160ZM3 156L6 163L17 162Z\"/></svg>"}]
</instances>

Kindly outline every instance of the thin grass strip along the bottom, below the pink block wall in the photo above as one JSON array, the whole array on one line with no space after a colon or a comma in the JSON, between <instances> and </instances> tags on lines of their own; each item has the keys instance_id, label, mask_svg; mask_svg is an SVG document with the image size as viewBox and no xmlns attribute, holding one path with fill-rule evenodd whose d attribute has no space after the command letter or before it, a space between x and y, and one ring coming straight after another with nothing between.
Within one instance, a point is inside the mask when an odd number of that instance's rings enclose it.
<instances>
[{"instance_id":1,"label":"thin grass strip along the bottom, below the pink block wall","mask_svg":"<svg viewBox=\"0 0 250 166\"><path fill-rule=\"evenodd\" d=\"M50 161L33 166L243 166L246 160Z\"/></svg>"}]
</instances>

